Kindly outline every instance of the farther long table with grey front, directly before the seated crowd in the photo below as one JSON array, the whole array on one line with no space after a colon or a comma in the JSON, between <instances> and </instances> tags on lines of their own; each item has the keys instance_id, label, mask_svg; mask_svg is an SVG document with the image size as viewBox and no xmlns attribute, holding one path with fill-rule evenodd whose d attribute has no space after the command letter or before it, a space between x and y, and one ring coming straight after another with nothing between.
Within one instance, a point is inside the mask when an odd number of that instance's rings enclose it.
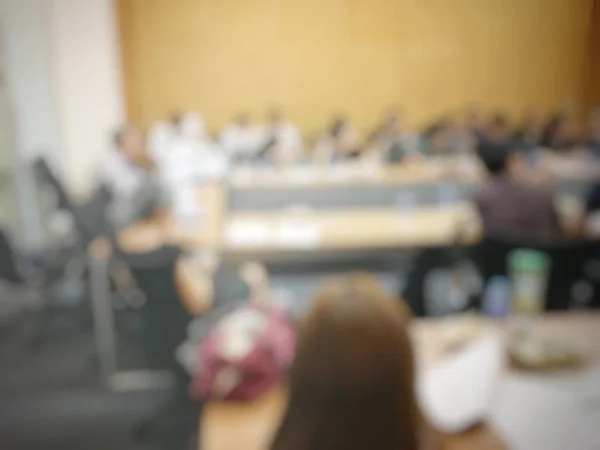
<instances>
[{"instance_id":1,"label":"farther long table with grey front, directly before the seated crowd","mask_svg":"<svg viewBox=\"0 0 600 450\"><path fill-rule=\"evenodd\" d=\"M598 165L585 160L547 155L541 167L527 171L528 176L543 172L558 194L580 196L600 179ZM467 155L388 166L245 167L231 175L227 208L233 212L273 211L290 205L316 210L381 208L397 203L399 194L410 195L415 204L434 206L449 197L468 198L484 179L479 162Z\"/></svg>"}]
</instances>

